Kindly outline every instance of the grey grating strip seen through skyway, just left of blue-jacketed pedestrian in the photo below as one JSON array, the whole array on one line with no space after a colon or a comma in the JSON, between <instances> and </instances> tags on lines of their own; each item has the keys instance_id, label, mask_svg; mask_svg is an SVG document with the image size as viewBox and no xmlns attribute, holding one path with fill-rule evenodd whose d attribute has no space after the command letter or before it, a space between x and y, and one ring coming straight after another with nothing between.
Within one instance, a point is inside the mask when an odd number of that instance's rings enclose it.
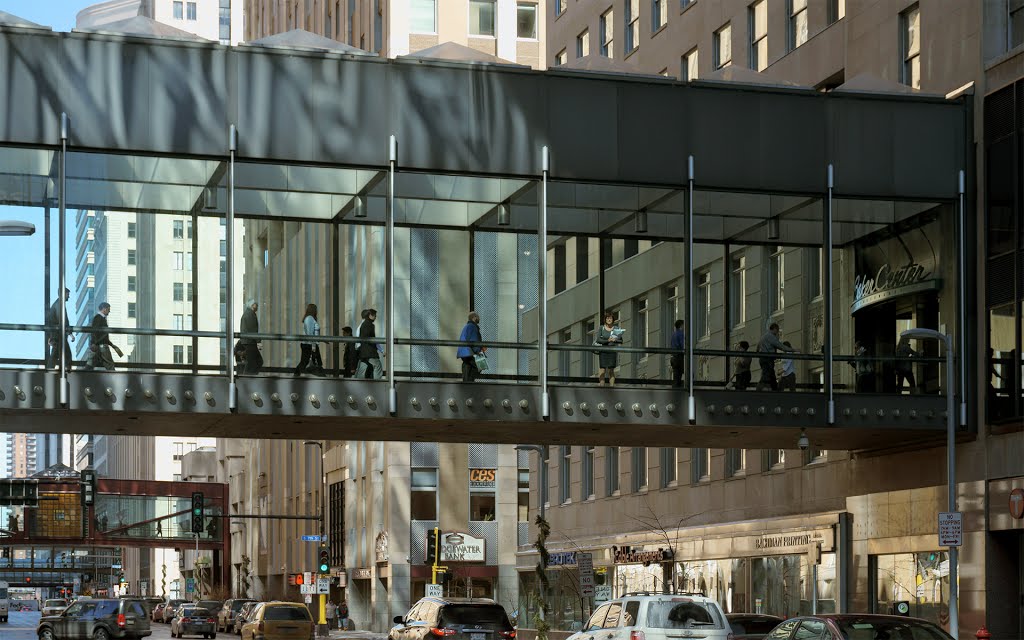
<instances>
[{"instance_id":1,"label":"grey grating strip seen through skyway, just left of blue-jacketed pedestrian","mask_svg":"<svg viewBox=\"0 0 1024 640\"><path fill-rule=\"evenodd\" d=\"M410 332L413 338L437 340L440 336L440 300L438 283L438 231L414 228L410 230ZM413 346L410 367L414 372L441 370L440 354L435 346Z\"/></svg>"}]
</instances>

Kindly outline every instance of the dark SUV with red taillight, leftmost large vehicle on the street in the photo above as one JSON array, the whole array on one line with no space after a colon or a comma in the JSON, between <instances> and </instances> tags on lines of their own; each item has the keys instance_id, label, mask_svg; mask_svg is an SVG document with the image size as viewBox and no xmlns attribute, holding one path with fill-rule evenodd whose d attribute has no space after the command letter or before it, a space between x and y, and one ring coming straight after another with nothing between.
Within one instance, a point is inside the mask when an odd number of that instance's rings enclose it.
<instances>
[{"instance_id":1,"label":"dark SUV with red taillight, leftmost large vehicle on the street","mask_svg":"<svg viewBox=\"0 0 1024 640\"><path fill-rule=\"evenodd\" d=\"M80 600L58 615L39 618L39 640L112 640L144 638L150 631L140 599Z\"/></svg>"}]
</instances>

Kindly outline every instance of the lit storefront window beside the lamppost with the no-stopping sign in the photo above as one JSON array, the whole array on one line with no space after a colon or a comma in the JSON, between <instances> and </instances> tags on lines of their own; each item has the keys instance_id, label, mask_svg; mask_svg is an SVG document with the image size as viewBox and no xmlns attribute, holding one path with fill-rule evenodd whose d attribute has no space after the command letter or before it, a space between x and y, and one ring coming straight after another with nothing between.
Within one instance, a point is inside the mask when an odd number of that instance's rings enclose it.
<instances>
[{"instance_id":1,"label":"lit storefront window beside the lamppost with the no-stopping sign","mask_svg":"<svg viewBox=\"0 0 1024 640\"><path fill-rule=\"evenodd\" d=\"M945 551L871 556L871 612L892 613L897 602L910 615L949 624L949 554Z\"/></svg>"}]
</instances>

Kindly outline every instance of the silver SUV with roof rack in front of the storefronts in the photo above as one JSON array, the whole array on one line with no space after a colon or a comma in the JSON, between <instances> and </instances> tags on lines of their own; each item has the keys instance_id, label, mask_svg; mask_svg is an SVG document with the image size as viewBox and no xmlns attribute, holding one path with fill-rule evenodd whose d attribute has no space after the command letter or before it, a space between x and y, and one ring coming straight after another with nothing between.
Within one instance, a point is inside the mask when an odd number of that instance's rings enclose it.
<instances>
[{"instance_id":1,"label":"silver SUV with roof rack in front of the storefronts","mask_svg":"<svg viewBox=\"0 0 1024 640\"><path fill-rule=\"evenodd\" d=\"M731 640L722 607L698 594L630 594L609 600L568 640Z\"/></svg>"}]
</instances>

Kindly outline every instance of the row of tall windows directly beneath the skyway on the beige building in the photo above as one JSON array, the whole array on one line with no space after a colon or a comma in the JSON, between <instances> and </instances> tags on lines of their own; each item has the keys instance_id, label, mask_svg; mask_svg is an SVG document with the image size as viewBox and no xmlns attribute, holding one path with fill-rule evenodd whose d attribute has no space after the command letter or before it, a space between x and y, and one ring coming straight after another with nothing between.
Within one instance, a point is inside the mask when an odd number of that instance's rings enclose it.
<instances>
[{"instance_id":1,"label":"row of tall windows directly beneath the skyway on the beige building","mask_svg":"<svg viewBox=\"0 0 1024 640\"><path fill-rule=\"evenodd\" d=\"M618 496L622 493L618 465L620 455L622 453L621 449L622 447L618 446L605 447L605 482L603 495L605 498ZM559 447L558 458L560 462L558 465L558 504L566 504L572 500L572 496L570 495L572 486L572 450L573 447L570 445L562 445ZM579 499L580 501L595 500L597 498L594 465L596 447L588 445L581 446L579 450L580 455L582 456ZM712 450L710 449L701 447L694 447L690 450L691 484L710 482L713 479L711 473L711 452ZM630 475L630 490L632 493L646 492L650 488L650 468L648 456L649 450L646 447L634 446L630 451L630 468L632 469L632 473ZM548 460L544 460L542 464L550 464L550 458L551 452L549 451ZM826 460L827 452L824 450L811 447L804 454L804 464L820 464ZM733 478L745 475L748 470L746 461L746 450L725 450L725 477ZM670 488L678 485L678 467L679 450L676 447L660 447L658 450L658 488ZM785 450L761 450L762 471L778 471L784 467ZM548 487L541 488L541 500L544 501L545 504L550 502Z\"/></svg>"}]
</instances>

